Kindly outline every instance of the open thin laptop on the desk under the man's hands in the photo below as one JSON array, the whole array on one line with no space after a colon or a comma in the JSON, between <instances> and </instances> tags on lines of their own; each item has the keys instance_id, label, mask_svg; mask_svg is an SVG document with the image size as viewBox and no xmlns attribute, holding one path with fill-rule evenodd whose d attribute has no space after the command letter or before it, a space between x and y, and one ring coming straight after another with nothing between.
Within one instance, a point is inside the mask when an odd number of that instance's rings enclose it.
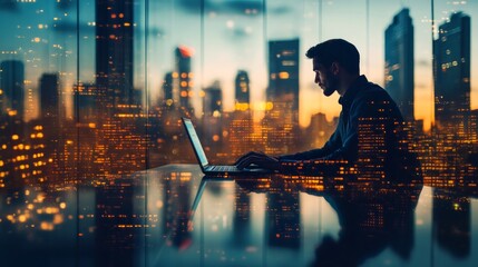
<instances>
[{"instance_id":1,"label":"open thin laptop on the desk under the man's hands","mask_svg":"<svg viewBox=\"0 0 478 267\"><path fill-rule=\"evenodd\" d=\"M184 128L186 129L187 137L189 138L191 145L193 145L194 154L196 155L197 161L199 162L201 169L206 175L260 175L273 172L269 169L262 168L244 168L238 169L236 166L215 166L209 165L207 161L206 154L204 152L203 146L201 145L199 137L194 129L193 122L188 118L182 118Z\"/></svg>"}]
</instances>

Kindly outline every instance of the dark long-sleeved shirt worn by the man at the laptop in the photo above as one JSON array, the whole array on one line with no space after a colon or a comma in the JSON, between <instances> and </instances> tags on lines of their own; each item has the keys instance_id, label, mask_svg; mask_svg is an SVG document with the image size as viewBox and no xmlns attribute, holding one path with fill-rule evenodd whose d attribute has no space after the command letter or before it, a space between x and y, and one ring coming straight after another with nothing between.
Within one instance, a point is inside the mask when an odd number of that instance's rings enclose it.
<instances>
[{"instance_id":1,"label":"dark long-sleeved shirt worn by the man at the laptop","mask_svg":"<svg viewBox=\"0 0 478 267\"><path fill-rule=\"evenodd\" d=\"M359 128L362 122L374 127L373 123L386 121L387 125L402 122L402 116L394 101L380 86L369 82L365 76L360 76L339 99L342 111L339 123L329 141L320 149L313 149L294 155L280 156L284 165L302 160L345 160L349 164L359 157ZM379 130L393 131L383 126ZM369 129L370 130L370 129ZM374 129L371 129L374 130ZM367 132L365 132L367 134ZM387 138L386 138L387 139ZM386 145L390 146L390 144Z\"/></svg>"}]
</instances>

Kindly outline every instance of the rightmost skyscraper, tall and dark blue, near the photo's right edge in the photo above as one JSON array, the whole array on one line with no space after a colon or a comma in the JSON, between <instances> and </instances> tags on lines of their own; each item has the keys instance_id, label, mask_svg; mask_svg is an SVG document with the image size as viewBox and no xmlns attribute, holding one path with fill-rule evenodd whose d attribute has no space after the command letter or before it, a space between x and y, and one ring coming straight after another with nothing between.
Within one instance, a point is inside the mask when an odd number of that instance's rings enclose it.
<instances>
[{"instance_id":1,"label":"rightmost skyscraper, tall and dark blue, near the photo's right edge","mask_svg":"<svg viewBox=\"0 0 478 267\"><path fill-rule=\"evenodd\" d=\"M452 14L440 26L433 46L436 125L466 132L470 111L470 17Z\"/></svg>"}]
</instances>

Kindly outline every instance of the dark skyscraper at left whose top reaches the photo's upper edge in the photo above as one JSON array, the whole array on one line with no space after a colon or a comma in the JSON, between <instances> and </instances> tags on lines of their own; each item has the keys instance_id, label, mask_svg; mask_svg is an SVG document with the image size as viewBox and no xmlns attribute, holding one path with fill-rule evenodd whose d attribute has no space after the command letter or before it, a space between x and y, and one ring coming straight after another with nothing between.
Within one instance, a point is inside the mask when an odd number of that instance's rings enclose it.
<instances>
[{"instance_id":1,"label":"dark skyscraper at left whose top reaches the photo's upper edge","mask_svg":"<svg viewBox=\"0 0 478 267\"><path fill-rule=\"evenodd\" d=\"M100 106L134 101L131 0L96 0L96 82Z\"/></svg>"}]
</instances>

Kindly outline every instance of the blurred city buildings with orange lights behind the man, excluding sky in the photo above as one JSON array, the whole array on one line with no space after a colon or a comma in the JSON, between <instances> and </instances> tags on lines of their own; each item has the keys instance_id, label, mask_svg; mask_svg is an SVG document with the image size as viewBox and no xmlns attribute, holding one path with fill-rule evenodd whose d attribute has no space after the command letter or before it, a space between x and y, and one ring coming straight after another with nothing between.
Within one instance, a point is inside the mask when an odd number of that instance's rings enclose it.
<instances>
[{"instance_id":1,"label":"blurred city buildings with orange lights behind the man, excluding sky","mask_svg":"<svg viewBox=\"0 0 478 267\"><path fill-rule=\"evenodd\" d=\"M218 81L195 96L194 49L184 46L170 51L175 63L164 76L160 97L149 99L133 82L133 2L96 1L96 81L72 85L70 106L62 100L61 73L41 73L38 88L32 88L26 62L0 62L1 190L101 185L143 169L194 162L181 117L193 119L209 161L220 164L250 150L283 155L319 148L335 129L338 118L328 120L321 112L312 116L309 127L299 125L300 39L267 41L264 102L252 101L252 81L245 70L237 70L231 81L235 85L233 111L223 108ZM435 123L427 131L413 116L414 33L409 9L398 12L384 32L384 88L407 120L409 149L419 156L425 182L433 187L477 186L478 110L470 108L470 20L455 12L439 26L432 43ZM195 97L202 101L201 113L194 110ZM30 106L37 103L39 116L27 120ZM68 109L72 117L67 116Z\"/></svg>"}]
</instances>

